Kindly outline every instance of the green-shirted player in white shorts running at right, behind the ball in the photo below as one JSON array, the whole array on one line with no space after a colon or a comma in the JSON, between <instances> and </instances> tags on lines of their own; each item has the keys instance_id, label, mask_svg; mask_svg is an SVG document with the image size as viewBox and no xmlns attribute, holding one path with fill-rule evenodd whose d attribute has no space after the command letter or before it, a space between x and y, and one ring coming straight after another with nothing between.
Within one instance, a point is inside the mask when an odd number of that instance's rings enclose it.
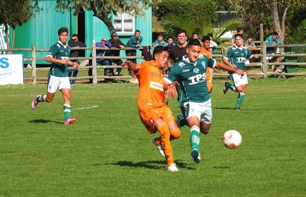
<instances>
[{"instance_id":1,"label":"green-shirted player in white shorts running at right, behind the ball","mask_svg":"<svg viewBox=\"0 0 306 197\"><path fill-rule=\"evenodd\" d=\"M243 38L242 35L236 34L235 35L235 43L236 45L233 48L228 49L225 56L222 58L222 61L229 65L230 67L237 68L245 72L245 61L247 58L253 59L258 58L257 55L252 55L251 52L246 48L243 47ZM228 89L231 89L238 93L237 103L235 106L235 110L240 110L240 105L243 101L247 82L247 76L245 75L237 75L234 72L231 72L231 79L233 80L234 85L225 82L223 93L226 94Z\"/></svg>"}]
</instances>

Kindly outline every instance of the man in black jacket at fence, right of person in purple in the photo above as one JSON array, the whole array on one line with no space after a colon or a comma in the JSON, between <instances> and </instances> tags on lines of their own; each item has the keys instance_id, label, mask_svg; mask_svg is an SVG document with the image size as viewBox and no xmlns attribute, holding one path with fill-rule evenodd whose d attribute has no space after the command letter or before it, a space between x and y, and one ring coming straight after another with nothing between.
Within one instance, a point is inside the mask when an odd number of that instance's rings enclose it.
<instances>
[{"instance_id":1,"label":"man in black jacket at fence, right of person in purple","mask_svg":"<svg viewBox=\"0 0 306 197\"><path fill-rule=\"evenodd\" d=\"M114 48L118 48L118 49L124 49L125 48L125 45L119 40L119 37L118 37L116 32L114 32L112 34L112 38L109 40L109 42L111 43L112 47L114 47ZM106 56L119 57L120 56L119 54L120 54L119 50L109 50L109 51L106 52ZM111 59L110 64L112 64L112 62L116 63L117 65L121 65L123 63L121 59ZM115 76L123 76L122 74L120 74L121 70L122 69L117 69L116 73L114 75Z\"/></svg>"}]
</instances>

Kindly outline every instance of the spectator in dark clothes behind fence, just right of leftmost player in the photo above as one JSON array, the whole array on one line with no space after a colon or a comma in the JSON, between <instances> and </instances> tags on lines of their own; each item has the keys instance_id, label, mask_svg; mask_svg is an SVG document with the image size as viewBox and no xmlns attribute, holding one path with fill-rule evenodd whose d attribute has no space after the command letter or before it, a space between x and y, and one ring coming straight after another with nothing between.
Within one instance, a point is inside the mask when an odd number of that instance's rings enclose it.
<instances>
[{"instance_id":1,"label":"spectator in dark clothes behind fence, just right of leftmost player","mask_svg":"<svg viewBox=\"0 0 306 197\"><path fill-rule=\"evenodd\" d=\"M86 47L85 43L82 43L81 41L79 41L77 34L72 35L72 38L68 41L68 45L69 45L69 47ZM80 50L71 50L69 57L79 57L80 56L79 51ZM72 62L75 61L75 62L79 63L78 59L72 59L71 61ZM72 66L68 65L68 67L72 67ZM71 77L71 74L72 74L72 77L77 77L78 72L79 72L78 69L70 69L70 70L68 70L68 77ZM74 84L74 83L75 83L75 80L70 81L70 84Z\"/></svg>"}]
</instances>

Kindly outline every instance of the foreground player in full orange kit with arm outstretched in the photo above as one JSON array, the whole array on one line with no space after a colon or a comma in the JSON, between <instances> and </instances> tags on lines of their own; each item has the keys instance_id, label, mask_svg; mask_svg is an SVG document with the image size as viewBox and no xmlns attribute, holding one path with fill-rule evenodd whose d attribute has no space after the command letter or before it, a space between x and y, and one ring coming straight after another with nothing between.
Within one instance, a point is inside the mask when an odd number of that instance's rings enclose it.
<instances>
[{"instance_id":1,"label":"foreground player in full orange kit with arm outstretched","mask_svg":"<svg viewBox=\"0 0 306 197\"><path fill-rule=\"evenodd\" d=\"M169 48L163 46L155 47L153 51L154 60L132 63L124 61L122 67L133 71L139 81L138 109L140 120L148 130L149 134L157 131L161 134L154 138L153 143L158 147L160 153L166 157L168 171L179 171L174 163L171 140L181 136L181 131L176 125L171 110L165 100L165 93L173 98L177 93L175 85L163 88L163 76L161 69L166 67L169 56Z\"/></svg>"}]
</instances>

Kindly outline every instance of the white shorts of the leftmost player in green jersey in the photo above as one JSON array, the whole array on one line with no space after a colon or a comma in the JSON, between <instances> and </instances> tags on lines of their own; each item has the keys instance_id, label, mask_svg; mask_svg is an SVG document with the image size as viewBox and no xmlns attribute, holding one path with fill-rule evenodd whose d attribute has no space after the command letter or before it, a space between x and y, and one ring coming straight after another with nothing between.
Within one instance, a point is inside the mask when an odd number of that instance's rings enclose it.
<instances>
[{"instance_id":1,"label":"white shorts of the leftmost player in green jersey","mask_svg":"<svg viewBox=\"0 0 306 197\"><path fill-rule=\"evenodd\" d=\"M50 93L55 93L57 88L61 89L71 89L69 77L55 77L49 75L47 91Z\"/></svg>"}]
</instances>

